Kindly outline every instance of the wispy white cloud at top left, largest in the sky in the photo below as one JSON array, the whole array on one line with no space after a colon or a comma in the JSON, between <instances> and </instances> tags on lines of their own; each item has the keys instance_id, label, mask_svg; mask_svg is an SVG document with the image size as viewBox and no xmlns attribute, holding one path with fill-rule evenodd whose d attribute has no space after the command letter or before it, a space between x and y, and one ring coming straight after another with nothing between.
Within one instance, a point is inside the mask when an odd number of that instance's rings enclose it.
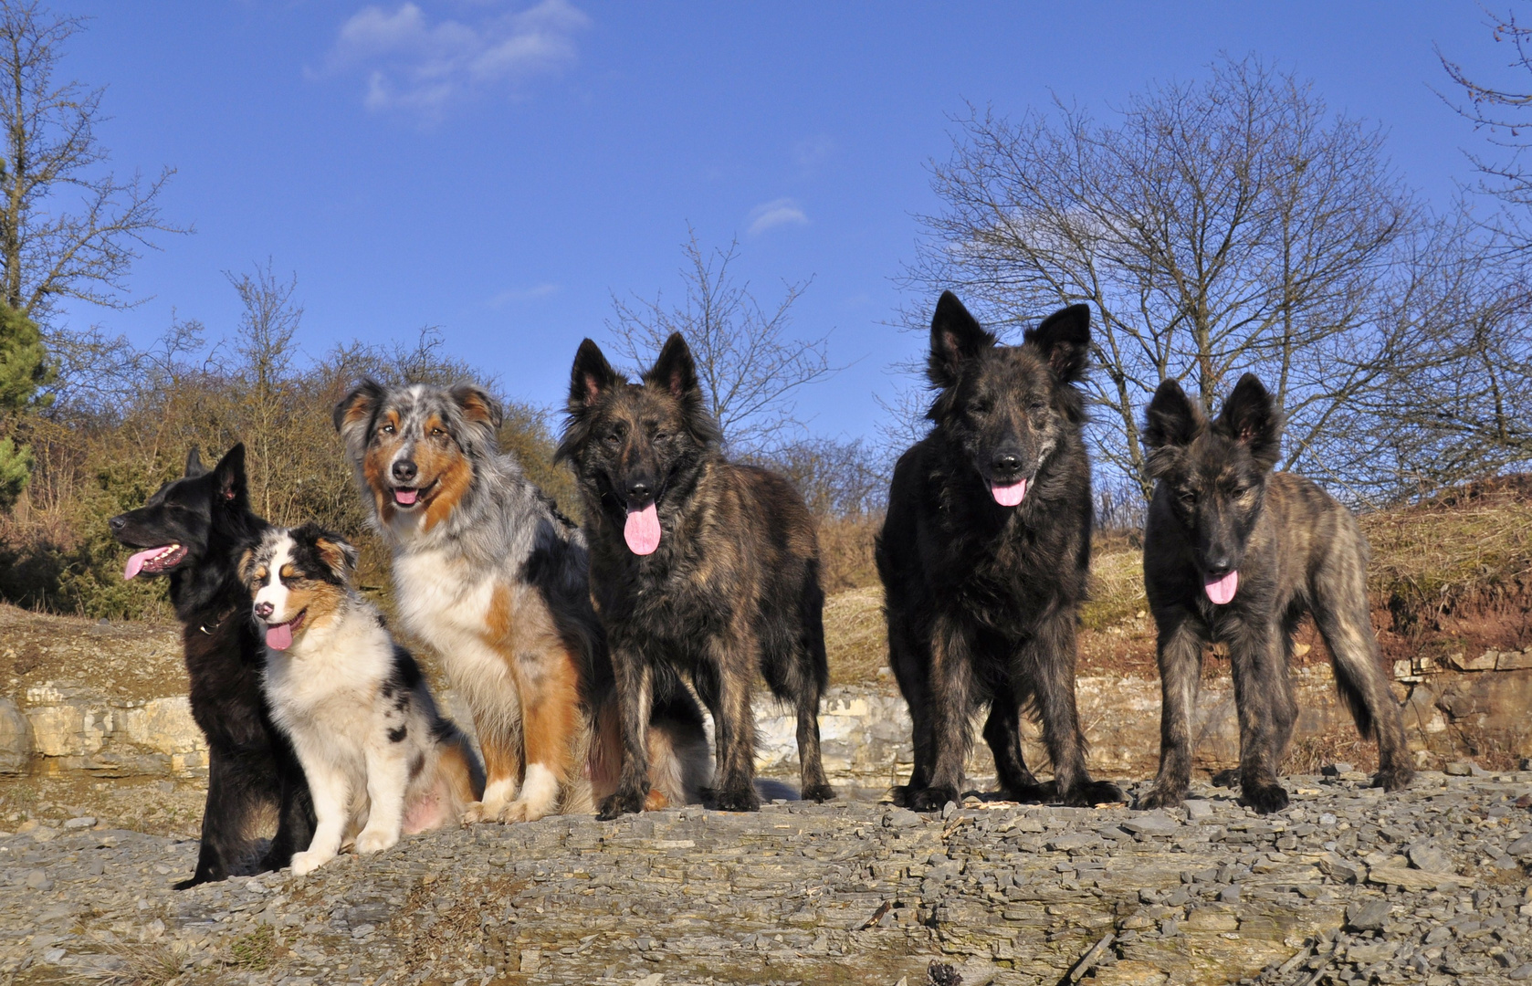
<instances>
[{"instance_id":1,"label":"wispy white cloud at top left, largest in the sky","mask_svg":"<svg viewBox=\"0 0 1532 986\"><path fill-rule=\"evenodd\" d=\"M326 64L365 73L368 109L434 116L463 96L571 64L574 34L587 26L590 17L568 0L475 23L432 23L412 2L394 11L366 6L340 26Z\"/></svg>"}]
</instances>

